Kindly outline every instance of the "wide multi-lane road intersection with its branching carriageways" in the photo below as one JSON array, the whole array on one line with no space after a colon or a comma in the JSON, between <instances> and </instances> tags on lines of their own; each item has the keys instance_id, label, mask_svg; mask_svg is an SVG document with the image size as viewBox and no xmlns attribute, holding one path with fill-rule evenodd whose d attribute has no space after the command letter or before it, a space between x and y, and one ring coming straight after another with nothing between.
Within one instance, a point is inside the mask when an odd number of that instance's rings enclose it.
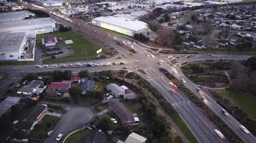
<instances>
[{"instance_id":1,"label":"wide multi-lane road intersection with its branching carriageways","mask_svg":"<svg viewBox=\"0 0 256 143\"><path fill-rule=\"evenodd\" d=\"M61 24L65 24L68 26L74 26L74 24L71 24L68 21L65 21L64 19L57 19L57 16L51 15L55 21L60 22ZM77 25L76 25L77 26ZM82 27L81 27L82 28ZM73 67L67 67L67 68L60 68L60 64L57 64L58 67L51 67L52 64L49 64L49 67L42 67L37 68L35 65L27 65L27 66L1 66L0 71L9 71L11 73L11 76L9 77L9 81L6 81L1 84L0 86L0 92L4 91L6 89L7 84L12 82L12 78L18 77L19 73L26 73L26 72L42 72L42 71L53 71L53 70L71 70L73 72L78 72L82 69L88 69L88 71L103 71L103 70L118 70L126 67L129 71L137 71L137 67L140 67L144 69L147 72L147 76L145 74L140 74L144 79L147 79L147 81L150 82L154 87L156 87L161 94L163 94L163 97L168 100L170 104L173 105L173 107L177 110L177 112L180 114L180 117L183 119L184 122L188 125L188 127L191 129L193 134L195 135L196 139L198 139L198 142L206 142L206 143L216 143L216 142L229 142L228 139L220 139L216 133L214 132L214 129L217 129L215 125L206 117L206 115L196 107L193 102L191 102L186 95L182 91L178 91L177 94L173 94L171 92L171 87L169 86L168 82L170 82L158 69L160 67L167 69L171 74L173 74L177 79L186 79L186 87L190 89L194 94L196 94L198 97L204 96L209 101L207 104L221 119L226 122L226 124L231 127L231 129L234 130L234 132L237 133L239 137L242 138L244 142L252 143L256 142L256 138L252 134L245 134L242 132L242 129L239 128L239 122L237 122L234 117L229 115L229 117L224 116L220 112L221 107L219 107L219 104L216 104L211 97L206 95L204 92L199 94L196 91L197 85L193 84L180 70L180 65L185 62L191 62L191 61L206 61L206 60L219 60L219 59L229 59L229 60L242 60L247 59L250 56L231 56L231 55L212 55L207 56L206 54L193 54L190 58L180 57L178 59L178 66L170 66L170 64L167 64L167 62L170 62L170 59L168 59L168 56L166 54L155 54L154 51L148 49L147 47L143 46L142 44L134 43L134 41L130 41L129 39L124 39L118 36L114 36L116 40L126 44L127 46L131 46L133 49L136 49L137 54L131 54L131 52L125 50L122 48L122 46L117 45L114 42L109 42L109 45L112 46L114 49L119 51L119 54L126 54L126 59L119 59L127 61L127 64L125 65L111 65L111 66L73 66ZM147 56L148 54L155 54L156 56ZM178 54L173 54L173 56L178 56ZM164 63L162 65L157 64L157 61L159 59L162 59ZM117 59L109 58L109 59L99 59L99 60L91 60L91 61L74 61L64 64L76 64L76 62L80 62L81 64L83 62L93 62L93 63L100 63L100 62L106 62L106 61L117 61ZM63 64L63 63L61 63ZM178 73L174 73L173 69L176 69ZM18 78L17 78L18 79ZM14 80L15 82L15 80Z\"/></svg>"}]
</instances>

